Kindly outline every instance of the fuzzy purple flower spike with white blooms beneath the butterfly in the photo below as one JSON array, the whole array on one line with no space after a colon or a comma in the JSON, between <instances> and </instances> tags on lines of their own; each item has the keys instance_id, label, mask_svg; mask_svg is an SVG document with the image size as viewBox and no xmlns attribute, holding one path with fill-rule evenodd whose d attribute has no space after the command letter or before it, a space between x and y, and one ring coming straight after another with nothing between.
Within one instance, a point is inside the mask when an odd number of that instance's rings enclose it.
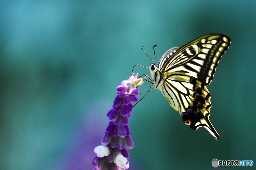
<instances>
[{"instance_id":1,"label":"fuzzy purple flower spike with white blooms beneath the butterfly","mask_svg":"<svg viewBox=\"0 0 256 170\"><path fill-rule=\"evenodd\" d=\"M97 154L92 161L94 170L125 170L130 166L127 149L132 149L134 143L130 137L128 119L133 107L131 102L138 101L138 98L134 96L139 93L137 86L144 83L141 78L137 77L138 74L135 76L132 74L116 89L118 95L114 99L113 108L107 113L110 122L101 139L102 145L94 149Z\"/></svg>"}]
</instances>

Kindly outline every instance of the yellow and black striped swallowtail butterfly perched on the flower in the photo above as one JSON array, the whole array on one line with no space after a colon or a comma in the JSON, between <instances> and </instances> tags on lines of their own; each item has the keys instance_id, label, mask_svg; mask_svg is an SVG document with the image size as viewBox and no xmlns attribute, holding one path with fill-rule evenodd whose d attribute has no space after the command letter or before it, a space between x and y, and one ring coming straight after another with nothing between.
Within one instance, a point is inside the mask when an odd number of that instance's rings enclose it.
<instances>
[{"instance_id":1,"label":"yellow and black striped swallowtail butterfly perched on the flower","mask_svg":"<svg viewBox=\"0 0 256 170\"><path fill-rule=\"evenodd\" d=\"M230 43L226 35L208 34L183 47L169 49L157 67L154 63L149 67L154 88L179 111L183 122L193 130L205 127L216 140L219 134L209 120L211 94L206 86Z\"/></svg>"}]
</instances>

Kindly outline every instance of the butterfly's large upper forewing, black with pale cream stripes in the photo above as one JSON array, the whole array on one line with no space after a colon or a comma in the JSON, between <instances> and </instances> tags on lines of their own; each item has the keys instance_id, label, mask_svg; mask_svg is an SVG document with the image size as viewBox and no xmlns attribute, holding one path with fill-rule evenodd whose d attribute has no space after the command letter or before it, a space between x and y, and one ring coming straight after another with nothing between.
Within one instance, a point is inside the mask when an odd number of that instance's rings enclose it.
<instances>
[{"instance_id":1,"label":"butterfly's large upper forewing, black with pale cream stripes","mask_svg":"<svg viewBox=\"0 0 256 170\"><path fill-rule=\"evenodd\" d=\"M197 38L177 49L172 56L165 60L160 68L161 72L185 73L197 78L205 85L209 85L219 60L229 48L230 43L230 38L222 34L209 34ZM164 56L168 56L168 54Z\"/></svg>"}]
</instances>

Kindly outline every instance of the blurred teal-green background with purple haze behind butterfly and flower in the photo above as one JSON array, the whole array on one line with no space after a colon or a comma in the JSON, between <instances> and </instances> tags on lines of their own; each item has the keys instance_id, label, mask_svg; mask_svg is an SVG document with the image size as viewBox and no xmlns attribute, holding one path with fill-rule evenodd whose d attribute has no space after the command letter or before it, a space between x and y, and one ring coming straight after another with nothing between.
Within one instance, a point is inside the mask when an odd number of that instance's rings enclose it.
<instances>
[{"instance_id":1,"label":"blurred teal-green background with purple haze behind butterfly and flower","mask_svg":"<svg viewBox=\"0 0 256 170\"><path fill-rule=\"evenodd\" d=\"M232 40L208 86L220 140L153 90L129 119L129 169L256 163L255 1L1 1L0 12L0 169L93 169L116 87L152 63L141 46L154 58L157 44L158 62L209 33Z\"/></svg>"}]
</instances>

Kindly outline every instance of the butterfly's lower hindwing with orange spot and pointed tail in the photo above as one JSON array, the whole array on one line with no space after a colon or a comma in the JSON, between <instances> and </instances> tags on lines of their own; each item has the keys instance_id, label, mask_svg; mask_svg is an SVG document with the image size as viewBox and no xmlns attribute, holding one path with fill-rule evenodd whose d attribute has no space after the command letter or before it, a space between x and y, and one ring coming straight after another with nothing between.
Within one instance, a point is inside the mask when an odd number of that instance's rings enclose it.
<instances>
[{"instance_id":1,"label":"butterfly's lower hindwing with orange spot and pointed tail","mask_svg":"<svg viewBox=\"0 0 256 170\"><path fill-rule=\"evenodd\" d=\"M205 127L218 140L219 134L209 120L211 95L206 86L184 73L165 72L163 77L165 80L163 93L168 100L170 99L168 95L173 94L172 99L177 101L176 105L184 123L193 130Z\"/></svg>"}]
</instances>

